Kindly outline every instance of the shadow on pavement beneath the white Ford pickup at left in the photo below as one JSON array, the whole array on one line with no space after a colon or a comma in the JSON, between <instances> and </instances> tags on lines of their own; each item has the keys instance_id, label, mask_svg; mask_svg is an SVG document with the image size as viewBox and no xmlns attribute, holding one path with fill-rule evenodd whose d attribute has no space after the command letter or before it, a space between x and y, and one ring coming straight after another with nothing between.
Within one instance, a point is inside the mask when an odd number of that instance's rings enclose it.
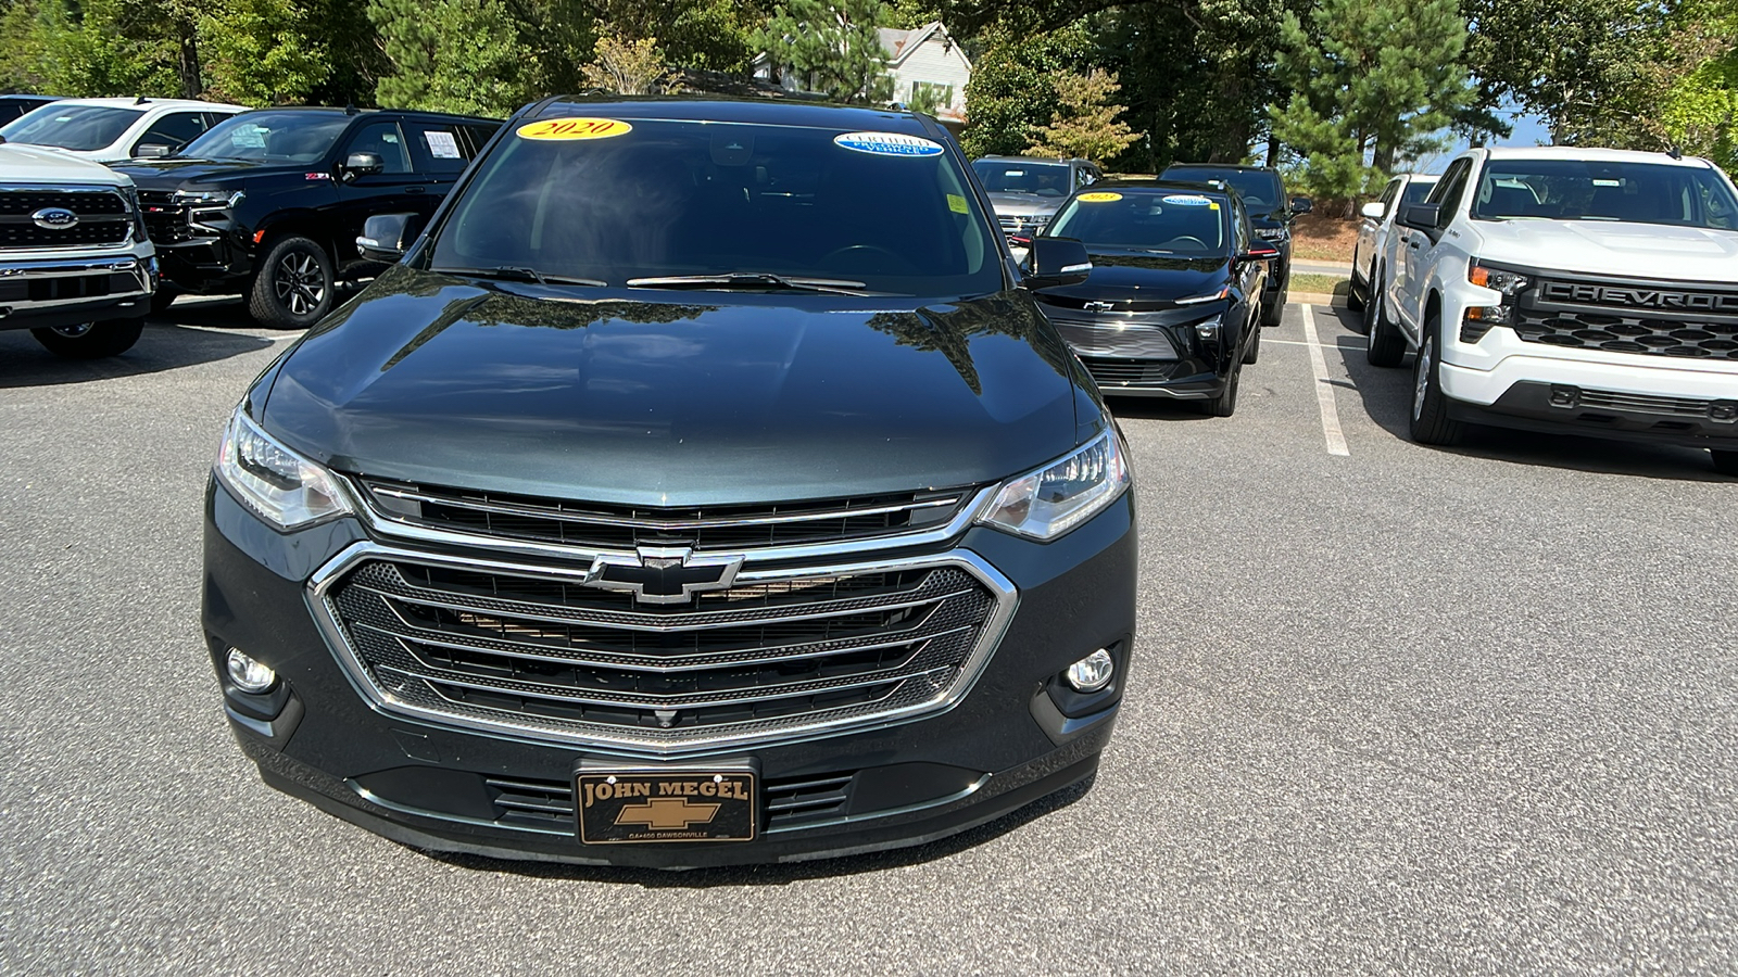
<instances>
[{"instance_id":1,"label":"shadow on pavement beneath the white Ford pickup at left","mask_svg":"<svg viewBox=\"0 0 1738 977\"><path fill-rule=\"evenodd\" d=\"M120 356L66 360L38 344L23 329L0 332L0 389L57 386L156 374L196 363L212 363L271 346L271 339L162 325L149 320L139 344Z\"/></svg>"}]
</instances>

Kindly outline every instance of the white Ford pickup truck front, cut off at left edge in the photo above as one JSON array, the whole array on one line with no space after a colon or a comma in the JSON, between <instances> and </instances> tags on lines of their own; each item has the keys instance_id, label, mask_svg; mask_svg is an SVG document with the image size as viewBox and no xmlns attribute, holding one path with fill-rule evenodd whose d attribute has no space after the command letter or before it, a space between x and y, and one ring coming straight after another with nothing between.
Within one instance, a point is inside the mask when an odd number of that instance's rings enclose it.
<instances>
[{"instance_id":1,"label":"white Ford pickup truck front, cut off at left edge","mask_svg":"<svg viewBox=\"0 0 1738 977\"><path fill-rule=\"evenodd\" d=\"M155 290L130 179L0 144L0 329L28 329L61 356L115 356L139 341Z\"/></svg>"}]
</instances>

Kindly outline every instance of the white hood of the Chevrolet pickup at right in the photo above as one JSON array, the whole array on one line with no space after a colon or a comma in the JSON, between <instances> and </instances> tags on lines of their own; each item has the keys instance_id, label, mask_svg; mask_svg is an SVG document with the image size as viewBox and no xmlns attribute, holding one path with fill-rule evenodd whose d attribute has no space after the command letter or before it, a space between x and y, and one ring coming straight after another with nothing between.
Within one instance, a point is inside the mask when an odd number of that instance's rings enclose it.
<instances>
[{"instance_id":1,"label":"white hood of the Chevrolet pickup at right","mask_svg":"<svg viewBox=\"0 0 1738 977\"><path fill-rule=\"evenodd\" d=\"M1470 221L1476 257L1622 278L1738 282L1738 231L1615 221Z\"/></svg>"}]
</instances>

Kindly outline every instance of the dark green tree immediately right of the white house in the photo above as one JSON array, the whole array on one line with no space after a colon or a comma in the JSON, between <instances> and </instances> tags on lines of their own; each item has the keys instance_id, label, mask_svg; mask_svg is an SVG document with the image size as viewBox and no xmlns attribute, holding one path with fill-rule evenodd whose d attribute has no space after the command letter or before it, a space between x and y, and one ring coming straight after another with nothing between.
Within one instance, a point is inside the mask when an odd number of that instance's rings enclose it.
<instances>
[{"instance_id":1,"label":"dark green tree immediately right of the white house","mask_svg":"<svg viewBox=\"0 0 1738 977\"><path fill-rule=\"evenodd\" d=\"M1055 75L1086 68L1093 38L1086 24L1074 24L1031 37L996 26L980 40L984 50L966 82L961 144L972 156L1012 156L1031 144L1038 123L1062 108Z\"/></svg>"}]
</instances>

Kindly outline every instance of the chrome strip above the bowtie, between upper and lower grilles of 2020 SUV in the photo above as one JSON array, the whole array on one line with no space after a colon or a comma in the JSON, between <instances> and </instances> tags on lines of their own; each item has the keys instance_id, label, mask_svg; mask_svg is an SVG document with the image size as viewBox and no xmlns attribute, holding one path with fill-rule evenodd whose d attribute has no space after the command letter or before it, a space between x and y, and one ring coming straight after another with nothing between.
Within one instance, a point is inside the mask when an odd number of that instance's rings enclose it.
<instances>
[{"instance_id":1,"label":"chrome strip above the bowtie, between upper and lower grilles of 2020 SUV","mask_svg":"<svg viewBox=\"0 0 1738 977\"><path fill-rule=\"evenodd\" d=\"M381 535L389 535L395 539L414 541L414 542L431 542L438 546L462 546L471 549L487 549L490 553L507 553L513 556L554 556L560 560L582 560L586 563L596 562L598 556L636 556L634 549L593 549L584 546L565 546L560 542L537 542L532 539L511 539L502 535L485 535L471 532L454 532L445 528L421 527L410 522L393 518L381 513L375 502L370 499L367 485L358 485L356 478L344 478L351 495L362 501L356 506L356 515L367 527ZM853 553L874 553L879 549L893 549L904 546L928 546L935 542L945 542L972 525L972 520L996 497L1001 485L987 485L980 488L972 501L959 508L947 525L933 527L921 532L905 534L888 534L888 535L869 535L862 539L845 539L829 542L793 542L789 546L737 546L730 548L730 553L742 553L756 562L772 560L826 560L831 556L845 556ZM713 553L713 549L695 549L695 553ZM808 570L813 574L815 570ZM539 575L549 574L549 568L539 568ZM572 574L563 574L572 575ZM584 570L579 572L584 577ZM744 577L739 575L739 581ZM582 581L579 581L582 582Z\"/></svg>"}]
</instances>

